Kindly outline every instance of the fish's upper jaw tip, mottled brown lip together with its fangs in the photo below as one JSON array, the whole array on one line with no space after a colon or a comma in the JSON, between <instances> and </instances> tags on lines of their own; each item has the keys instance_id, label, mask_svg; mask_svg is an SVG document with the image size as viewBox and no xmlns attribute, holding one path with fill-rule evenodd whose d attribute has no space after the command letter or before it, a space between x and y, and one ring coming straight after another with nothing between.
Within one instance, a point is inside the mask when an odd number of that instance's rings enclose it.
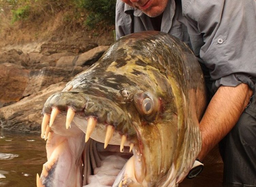
<instances>
[{"instance_id":1,"label":"fish's upper jaw tip, mottled brown lip together with its fangs","mask_svg":"<svg viewBox=\"0 0 256 187\"><path fill-rule=\"evenodd\" d=\"M84 131L86 134L85 142L91 137L96 125L100 124L101 129L105 128L106 132L104 147L108 145L114 132L121 135L119 138L121 143L118 143L121 145L120 150L123 150L124 142L127 138L136 136L130 116L116 103L103 97L75 91L59 92L47 99L42 114L44 117L41 137L45 139L47 139L57 116L66 116L66 129L70 129L71 123L75 123ZM81 120L84 123L82 125L80 122L77 122ZM53 129L56 131L56 128Z\"/></svg>"}]
</instances>

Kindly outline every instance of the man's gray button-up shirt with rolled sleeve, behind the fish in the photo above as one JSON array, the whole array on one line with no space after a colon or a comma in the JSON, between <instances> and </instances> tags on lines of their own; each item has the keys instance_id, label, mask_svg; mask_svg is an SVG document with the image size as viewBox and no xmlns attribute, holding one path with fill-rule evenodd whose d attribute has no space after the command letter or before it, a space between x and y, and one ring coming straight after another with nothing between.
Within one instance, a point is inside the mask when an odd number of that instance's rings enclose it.
<instances>
[{"instance_id":1,"label":"man's gray button-up shirt with rolled sleeve, behind the fish","mask_svg":"<svg viewBox=\"0 0 256 187\"><path fill-rule=\"evenodd\" d=\"M117 0L117 39L146 30L154 30L150 17ZM209 70L213 91L242 82L254 88L255 0L169 0L161 31L190 46Z\"/></svg>"}]
</instances>

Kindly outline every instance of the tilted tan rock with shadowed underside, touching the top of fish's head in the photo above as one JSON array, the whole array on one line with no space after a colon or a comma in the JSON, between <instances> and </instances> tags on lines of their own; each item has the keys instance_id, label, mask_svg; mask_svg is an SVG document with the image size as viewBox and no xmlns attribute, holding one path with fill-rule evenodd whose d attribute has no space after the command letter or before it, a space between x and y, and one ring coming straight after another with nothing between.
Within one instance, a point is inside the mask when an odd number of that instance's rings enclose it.
<instances>
[{"instance_id":1,"label":"tilted tan rock with shadowed underside, touching the top of fish's head","mask_svg":"<svg viewBox=\"0 0 256 187\"><path fill-rule=\"evenodd\" d=\"M95 63L106 51L108 46L99 46L95 47L85 53L79 55L75 66L90 66Z\"/></svg>"}]
</instances>

